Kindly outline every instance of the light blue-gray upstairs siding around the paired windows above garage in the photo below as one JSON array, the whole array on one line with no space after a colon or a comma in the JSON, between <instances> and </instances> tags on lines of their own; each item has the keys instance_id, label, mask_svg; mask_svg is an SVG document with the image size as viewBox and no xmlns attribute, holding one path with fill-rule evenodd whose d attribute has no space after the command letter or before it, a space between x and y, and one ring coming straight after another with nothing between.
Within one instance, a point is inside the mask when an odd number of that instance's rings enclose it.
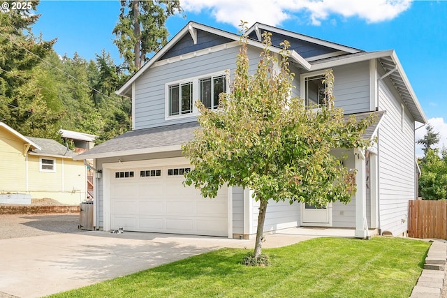
<instances>
[{"instance_id":1,"label":"light blue-gray upstairs siding around the paired windows above garage","mask_svg":"<svg viewBox=\"0 0 447 298\"><path fill-rule=\"evenodd\" d=\"M230 69L234 73L240 47L230 47L203 56L153 66L135 82L135 129L196 121L196 117L165 120L165 84ZM250 68L255 70L259 49L249 51Z\"/></svg>"}]
</instances>

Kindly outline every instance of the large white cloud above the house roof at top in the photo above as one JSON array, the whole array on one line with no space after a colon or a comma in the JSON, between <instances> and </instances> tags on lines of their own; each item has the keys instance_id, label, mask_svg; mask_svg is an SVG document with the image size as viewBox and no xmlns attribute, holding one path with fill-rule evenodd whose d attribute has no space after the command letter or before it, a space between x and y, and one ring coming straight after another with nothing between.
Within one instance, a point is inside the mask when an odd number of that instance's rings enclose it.
<instances>
[{"instance_id":1,"label":"large white cloud above the house roof at top","mask_svg":"<svg viewBox=\"0 0 447 298\"><path fill-rule=\"evenodd\" d=\"M261 22L272 26L300 15L301 22L320 25L330 15L358 17L369 23L392 20L411 6L413 0L182 0L188 13L210 12L218 21L238 27L241 20L249 26ZM303 20L304 17L304 20ZM307 20L306 20L307 19Z\"/></svg>"}]
</instances>

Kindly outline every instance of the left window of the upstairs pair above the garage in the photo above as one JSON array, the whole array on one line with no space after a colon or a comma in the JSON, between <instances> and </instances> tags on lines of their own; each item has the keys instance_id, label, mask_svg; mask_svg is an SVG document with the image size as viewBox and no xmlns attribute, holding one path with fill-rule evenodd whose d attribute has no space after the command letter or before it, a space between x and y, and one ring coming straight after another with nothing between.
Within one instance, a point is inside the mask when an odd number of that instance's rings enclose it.
<instances>
[{"instance_id":1,"label":"left window of the upstairs pair above the garage","mask_svg":"<svg viewBox=\"0 0 447 298\"><path fill-rule=\"evenodd\" d=\"M169 116L193 112L193 83L169 86Z\"/></svg>"}]
</instances>

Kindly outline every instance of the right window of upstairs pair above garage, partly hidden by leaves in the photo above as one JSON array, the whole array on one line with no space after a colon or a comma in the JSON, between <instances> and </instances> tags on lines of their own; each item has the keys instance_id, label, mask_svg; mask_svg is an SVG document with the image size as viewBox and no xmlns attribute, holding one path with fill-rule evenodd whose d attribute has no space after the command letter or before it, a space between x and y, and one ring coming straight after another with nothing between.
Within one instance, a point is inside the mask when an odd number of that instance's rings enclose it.
<instances>
[{"instance_id":1,"label":"right window of upstairs pair above garage, partly hidden by leaves","mask_svg":"<svg viewBox=\"0 0 447 298\"><path fill-rule=\"evenodd\" d=\"M215 110L219 107L219 94L226 92L226 76L207 77L199 80L199 97L205 107Z\"/></svg>"}]
</instances>

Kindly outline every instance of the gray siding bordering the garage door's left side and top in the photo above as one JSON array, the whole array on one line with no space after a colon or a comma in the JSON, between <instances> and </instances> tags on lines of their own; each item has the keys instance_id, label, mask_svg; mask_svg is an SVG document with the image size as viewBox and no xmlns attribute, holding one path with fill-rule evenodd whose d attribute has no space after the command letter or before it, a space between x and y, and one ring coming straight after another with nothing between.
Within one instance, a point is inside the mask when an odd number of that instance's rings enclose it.
<instances>
[{"instance_id":1,"label":"gray siding bordering the garage door's left side and top","mask_svg":"<svg viewBox=\"0 0 447 298\"><path fill-rule=\"evenodd\" d=\"M182 156L180 151L163 152L158 154L138 154L133 156L117 156L112 158L98 158L96 159L96 170L102 170L104 163L118 163L118 160L125 161L146 161L148 159L172 158ZM103 178L96 179L96 228L103 228L104 226L104 200L103 200Z\"/></svg>"}]
</instances>

